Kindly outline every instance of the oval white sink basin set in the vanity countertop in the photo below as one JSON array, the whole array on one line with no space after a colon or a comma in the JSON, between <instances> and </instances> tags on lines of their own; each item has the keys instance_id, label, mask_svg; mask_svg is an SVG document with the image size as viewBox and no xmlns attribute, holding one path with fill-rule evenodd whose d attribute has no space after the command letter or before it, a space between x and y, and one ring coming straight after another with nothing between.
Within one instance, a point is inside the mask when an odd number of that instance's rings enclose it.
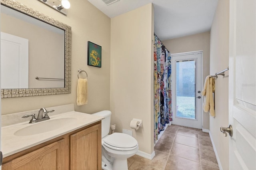
<instances>
[{"instance_id":1,"label":"oval white sink basin set in the vanity countertop","mask_svg":"<svg viewBox=\"0 0 256 170\"><path fill-rule=\"evenodd\" d=\"M28 136L33 134L40 134L45 132L50 132L52 130L56 130L58 128L63 128L72 124L76 121L76 118L67 117L60 119L50 119L47 121L42 121L38 123L33 123L28 127L21 128L14 132L16 136Z\"/></svg>"}]
</instances>

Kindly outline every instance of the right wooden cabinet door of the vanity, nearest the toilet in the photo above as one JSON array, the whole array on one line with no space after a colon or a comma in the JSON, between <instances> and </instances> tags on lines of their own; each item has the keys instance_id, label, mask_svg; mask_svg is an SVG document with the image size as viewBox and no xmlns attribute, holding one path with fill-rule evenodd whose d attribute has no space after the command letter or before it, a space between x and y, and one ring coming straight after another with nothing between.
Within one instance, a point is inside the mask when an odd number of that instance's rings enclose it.
<instances>
[{"instance_id":1,"label":"right wooden cabinet door of the vanity, nearest the toilet","mask_svg":"<svg viewBox=\"0 0 256 170\"><path fill-rule=\"evenodd\" d=\"M70 169L101 170L101 124L70 136Z\"/></svg>"}]
</instances>

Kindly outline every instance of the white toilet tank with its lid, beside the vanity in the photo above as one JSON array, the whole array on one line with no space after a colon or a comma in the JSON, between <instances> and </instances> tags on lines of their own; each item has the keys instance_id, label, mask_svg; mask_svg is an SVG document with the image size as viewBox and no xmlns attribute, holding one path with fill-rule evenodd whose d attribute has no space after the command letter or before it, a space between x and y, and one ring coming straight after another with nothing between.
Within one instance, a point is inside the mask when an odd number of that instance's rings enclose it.
<instances>
[{"instance_id":1,"label":"white toilet tank with its lid, beside the vanity","mask_svg":"<svg viewBox=\"0 0 256 170\"><path fill-rule=\"evenodd\" d=\"M101 120L101 137L103 138L109 133L111 111L100 111L97 113L93 113L92 115L105 117L105 119Z\"/></svg>"}]
</instances>

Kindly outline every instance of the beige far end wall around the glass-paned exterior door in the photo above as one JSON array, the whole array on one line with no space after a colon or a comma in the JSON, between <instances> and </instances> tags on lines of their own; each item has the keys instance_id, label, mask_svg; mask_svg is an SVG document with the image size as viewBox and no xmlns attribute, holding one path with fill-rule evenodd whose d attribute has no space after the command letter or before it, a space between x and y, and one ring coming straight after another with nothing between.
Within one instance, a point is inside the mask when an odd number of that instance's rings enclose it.
<instances>
[{"instance_id":1,"label":"beige far end wall around the glass-paned exterior door","mask_svg":"<svg viewBox=\"0 0 256 170\"><path fill-rule=\"evenodd\" d=\"M183 53L203 50L203 83L210 70L210 32L185 36L171 40L162 41L166 48L172 53ZM203 86L202 86L203 87ZM209 114L203 114L203 128L209 129Z\"/></svg>"}]
</instances>

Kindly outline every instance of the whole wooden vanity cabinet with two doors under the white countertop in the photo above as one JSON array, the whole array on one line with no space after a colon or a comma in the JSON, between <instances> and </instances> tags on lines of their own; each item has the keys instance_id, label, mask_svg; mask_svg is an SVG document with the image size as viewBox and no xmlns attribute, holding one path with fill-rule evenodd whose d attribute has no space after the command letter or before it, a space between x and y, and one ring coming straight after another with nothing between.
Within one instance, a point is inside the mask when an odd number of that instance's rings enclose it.
<instances>
[{"instance_id":1,"label":"whole wooden vanity cabinet with two doors under the white countertop","mask_svg":"<svg viewBox=\"0 0 256 170\"><path fill-rule=\"evenodd\" d=\"M101 122L3 159L2 170L101 170Z\"/></svg>"}]
</instances>

